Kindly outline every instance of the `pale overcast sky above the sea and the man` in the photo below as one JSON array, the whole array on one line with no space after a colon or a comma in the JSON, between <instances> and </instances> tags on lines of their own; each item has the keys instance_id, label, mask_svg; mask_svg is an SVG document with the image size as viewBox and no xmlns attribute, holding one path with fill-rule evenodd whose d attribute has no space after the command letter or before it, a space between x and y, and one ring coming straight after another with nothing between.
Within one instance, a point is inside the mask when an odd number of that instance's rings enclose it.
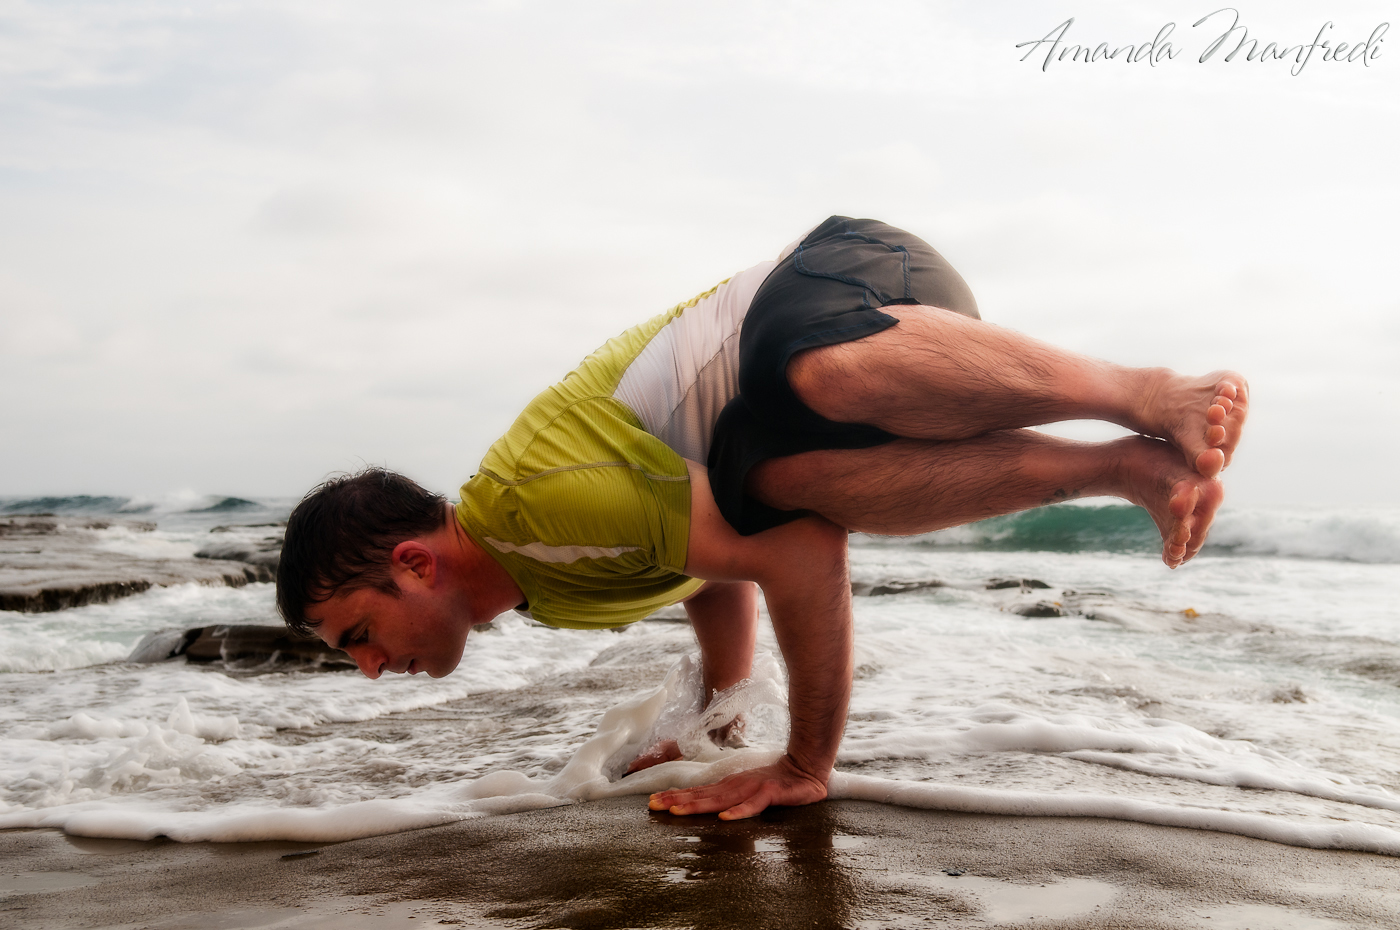
<instances>
[{"instance_id":1,"label":"pale overcast sky above the sea and the man","mask_svg":"<svg viewBox=\"0 0 1400 930\"><path fill-rule=\"evenodd\" d=\"M0 0L0 494L454 493L609 336L844 213L990 321L1245 371L1231 501L1400 506L1400 31L1201 63L1217 1ZM1396 4L1239 10L1263 48ZM1138 60L1021 60L1070 17Z\"/></svg>"}]
</instances>

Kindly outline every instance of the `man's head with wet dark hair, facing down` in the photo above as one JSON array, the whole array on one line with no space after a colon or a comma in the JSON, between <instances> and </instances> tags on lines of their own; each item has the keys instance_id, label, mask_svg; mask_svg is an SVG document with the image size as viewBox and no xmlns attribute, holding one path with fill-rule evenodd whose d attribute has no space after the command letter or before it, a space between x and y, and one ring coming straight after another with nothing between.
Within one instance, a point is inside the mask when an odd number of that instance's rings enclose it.
<instances>
[{"instance_id":1,"label":"man's head with wet dark hair, facing down","mask_svg":"<svg viewBox=\"0 0 1400 930\"><path fill-rule=\"evenodd\" d=\"M277 609L287 626L302 634L319 632L332 646L354 655L349 646L358 644L356 637L367 625L361 620L378 619L381 626L389 620L399 626L409 620L421 625L420 618L427 619L424 605L405 598L416 601L417 587L438 581L435 573L441 564L431 546L420 541L438 534L447 517L441 494L382 468L333 478L311 490L287 518L277 566ZM406 591L405 583L413 590ZM335 618L336 629L318 629L328 616ZM386 653L370 667L360 655L356 658L371 678L385 669L406 671L393 667L399 660L407 664L424 658L400 657L398 651L402 650ZM451 671L424 667L423 661L419 668L444 675Z\"/></svg>"}]
</instances>

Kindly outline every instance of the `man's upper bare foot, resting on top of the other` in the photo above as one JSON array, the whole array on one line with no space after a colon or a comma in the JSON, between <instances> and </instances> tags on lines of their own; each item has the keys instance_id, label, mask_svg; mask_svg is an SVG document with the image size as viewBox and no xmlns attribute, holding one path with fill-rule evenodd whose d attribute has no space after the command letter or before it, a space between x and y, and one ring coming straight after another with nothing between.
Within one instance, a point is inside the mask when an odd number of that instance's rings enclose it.
<instances>
[{"instance_id":1,"label":"man's upper bare foot, resting on top of the other","mask_svg":"<svg viewBox=\"0 0 1400 930\"><path fill-rule=\"evenodd\" d=\"M1249 382L1235 371L1187 378L1154 370L1138 406L1134 429L1161 437L1186 455L1205 478L1229 465L1249 415Z\"/></svg>"}]
</instances>

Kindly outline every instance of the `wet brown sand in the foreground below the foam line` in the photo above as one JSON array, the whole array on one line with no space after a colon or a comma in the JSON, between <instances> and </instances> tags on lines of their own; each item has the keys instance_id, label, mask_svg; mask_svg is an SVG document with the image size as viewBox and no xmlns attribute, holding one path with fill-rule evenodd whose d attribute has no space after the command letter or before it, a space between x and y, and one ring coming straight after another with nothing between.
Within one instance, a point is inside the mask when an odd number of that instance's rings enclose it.
<instances>
[{"instance_id":1,"label":"wet brown sand in the foreground below the foam line","mask_svg":"<svg viewBox=\"0 0 1400 930\"><path fill-rule=\"evenodd\" d=\"M347 843L0 833L0 926L1400 926L1400 860L862 801L735 824L622 798Z\"/></svg>"}]
</instances>

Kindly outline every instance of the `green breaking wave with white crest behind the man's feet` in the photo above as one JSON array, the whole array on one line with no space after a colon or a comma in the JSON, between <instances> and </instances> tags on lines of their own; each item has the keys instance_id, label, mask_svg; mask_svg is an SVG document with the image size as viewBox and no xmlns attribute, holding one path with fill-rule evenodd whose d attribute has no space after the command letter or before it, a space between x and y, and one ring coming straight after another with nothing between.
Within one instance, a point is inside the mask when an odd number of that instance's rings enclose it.
<instances>
[{"instance_id":1,"label":"green breaking wave with white crest behind the man's feet","mask_svg":"<svg viewBox=\"0 0 1400 930\"><path fill-rule=\"evenodd\" d=\"M1054 504L897 543L993 552L1155 553L1162 548L1152 518L1141 507L1128 504ZM1205 552L1396 563L1400 562L1400 514L1385 510L1224 510L1215 518Z\"/></svg>"}]
</instances>

